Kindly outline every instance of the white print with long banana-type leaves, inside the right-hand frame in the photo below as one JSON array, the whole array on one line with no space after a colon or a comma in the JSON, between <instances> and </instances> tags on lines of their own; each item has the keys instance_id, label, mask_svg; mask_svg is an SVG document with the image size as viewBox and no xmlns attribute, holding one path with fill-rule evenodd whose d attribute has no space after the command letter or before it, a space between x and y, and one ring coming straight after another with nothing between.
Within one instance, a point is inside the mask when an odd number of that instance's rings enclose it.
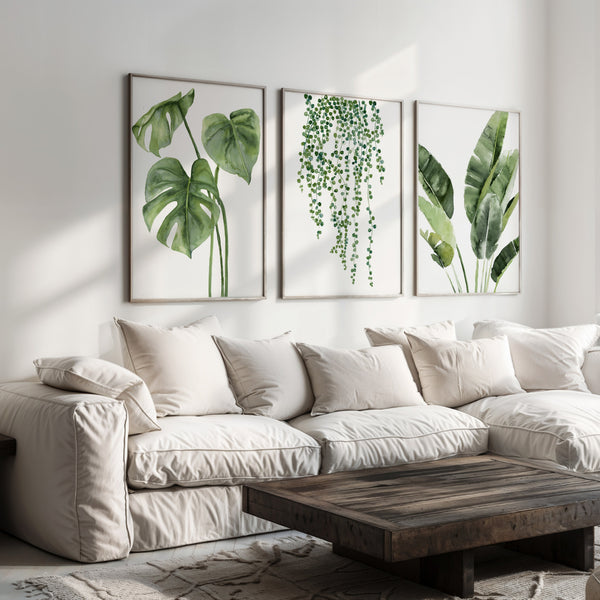
<instances>
[{"instance_id":1,"label":"white print with long banana-type leaves, inside the right-hand frame","mask_svg":"<svg viewBox=\"0 0 600 600\"><path fill-rule=\"evenodd\" d=\"M518 117L418 104L419 293L519 291Z\"/></svg>"}]
</instances>

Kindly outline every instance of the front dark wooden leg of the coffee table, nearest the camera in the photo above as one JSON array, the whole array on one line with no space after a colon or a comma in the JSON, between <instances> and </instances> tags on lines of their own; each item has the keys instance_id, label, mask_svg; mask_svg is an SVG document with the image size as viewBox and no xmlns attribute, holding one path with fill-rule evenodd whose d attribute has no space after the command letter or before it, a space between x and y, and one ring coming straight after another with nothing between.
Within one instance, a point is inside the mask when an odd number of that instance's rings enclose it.
<instances>
[{"instance_id":1,"label":"front dark wooden leg of the coffee table, nearest the camera","mask_svg":"<svg viewBox=\"0 0 600 600\"><path fill-rule=\"evenodd\" d=\"M400 562L386 562L338 544L333 551L340 556L365 563L376 569L393 573L402 579L436 588L453 596L468 598L474 590L474 561L472 550L449 552Z\"/></svg>"}]
</instances>

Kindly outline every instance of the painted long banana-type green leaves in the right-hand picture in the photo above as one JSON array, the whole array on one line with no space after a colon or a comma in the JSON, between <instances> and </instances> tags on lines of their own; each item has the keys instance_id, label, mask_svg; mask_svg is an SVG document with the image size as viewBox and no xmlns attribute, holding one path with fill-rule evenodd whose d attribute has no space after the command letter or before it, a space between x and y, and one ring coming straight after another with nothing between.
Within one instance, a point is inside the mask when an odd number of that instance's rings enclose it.
<instances>
[{"instance_id":1,"label":"painted long banana-type green leaves in the right-hand picture","mask_svg":"<svg viewBox=\"0 0 600 600\"><path fill-rule=\"evenodd\" d=\"M475 273L469 280L463 255L454 232L454 187L439 161L424 146L418 147L418 177L425 196L418 206L432 231L420 229L420 236L433 253L454 293L498 291L502 276L519 253L519 237L498 246L519 202L512 190L519 168L519 151L502 151L508 112L496 111L486 123L469 159L465 175L464 208L470 224ZM455 266L458 257L459 267Z\"/></svg>"}]
</instances>

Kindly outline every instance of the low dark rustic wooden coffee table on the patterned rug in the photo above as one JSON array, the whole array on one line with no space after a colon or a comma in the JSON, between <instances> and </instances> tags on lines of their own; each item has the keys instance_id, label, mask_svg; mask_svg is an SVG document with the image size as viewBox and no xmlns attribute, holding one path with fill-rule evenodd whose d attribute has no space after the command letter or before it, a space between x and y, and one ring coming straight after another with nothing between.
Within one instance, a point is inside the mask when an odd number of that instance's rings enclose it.
<instances>
[{"instance_id":1,"label":"low dark rustic wooden coffee table on the patterned rug","mask_svg":"<svg viewBox=\"0 0 600 600\"><path fill-rule=\"evenodd\" d=\"M482 546L593 568L600 480L485 455L246 485L243 509L465 597Z\"/></svg>"}]
</instances>

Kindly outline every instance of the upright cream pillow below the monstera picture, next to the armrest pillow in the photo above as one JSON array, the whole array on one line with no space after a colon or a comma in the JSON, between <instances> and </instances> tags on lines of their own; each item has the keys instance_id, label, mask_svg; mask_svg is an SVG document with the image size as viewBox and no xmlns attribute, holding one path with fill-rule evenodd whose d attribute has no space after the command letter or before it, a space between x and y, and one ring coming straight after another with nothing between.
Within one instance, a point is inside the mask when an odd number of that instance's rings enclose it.
<instances>
[{"instance_id":1,"label":"upright cream pillow below the monstera picture, next to the armrest pillow","mask_svg":"<svg viewBox=\"0 0 600 600\"><path fill-rule=\"evenodd\" d=\"M212 336L216 317L163 328L115 319L134 371L146 382L159 417L240 413Z\"/></svg>"}]
</instances>

